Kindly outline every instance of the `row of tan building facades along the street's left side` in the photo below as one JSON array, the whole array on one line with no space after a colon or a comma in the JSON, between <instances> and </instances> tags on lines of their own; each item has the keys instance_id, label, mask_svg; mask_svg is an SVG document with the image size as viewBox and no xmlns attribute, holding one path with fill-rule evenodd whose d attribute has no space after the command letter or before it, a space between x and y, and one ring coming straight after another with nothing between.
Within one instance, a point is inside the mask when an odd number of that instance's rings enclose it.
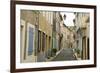
<instances>
[{"instance_id":1,"label":"row of tan building facades along the street's left side","mask_svg":"<svg viewBox=\"0 0 100 73\"><path fill-rule=\"evenodd\" d=\"M60 12L21 10L21 62L44 62L61 49Z\"/></svg>"}]
</instances>

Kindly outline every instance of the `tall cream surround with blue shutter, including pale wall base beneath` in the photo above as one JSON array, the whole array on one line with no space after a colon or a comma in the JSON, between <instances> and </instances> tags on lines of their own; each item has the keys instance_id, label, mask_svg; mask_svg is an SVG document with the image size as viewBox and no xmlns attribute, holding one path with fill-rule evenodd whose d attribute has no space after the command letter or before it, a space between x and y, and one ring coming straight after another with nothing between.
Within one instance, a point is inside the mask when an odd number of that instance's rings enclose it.
<instances>
[{"instance_id":1,"label":"tall cream surround with blue shutter, including pale wall base beneath","mask_svg":"<svg viewBox=\"0 0 100 73\"><path fill-rule=\"evenodd\" d=\"M35 26L27 24L26 59L25 62L35 62Z\"/></svg>"}]
</instances>

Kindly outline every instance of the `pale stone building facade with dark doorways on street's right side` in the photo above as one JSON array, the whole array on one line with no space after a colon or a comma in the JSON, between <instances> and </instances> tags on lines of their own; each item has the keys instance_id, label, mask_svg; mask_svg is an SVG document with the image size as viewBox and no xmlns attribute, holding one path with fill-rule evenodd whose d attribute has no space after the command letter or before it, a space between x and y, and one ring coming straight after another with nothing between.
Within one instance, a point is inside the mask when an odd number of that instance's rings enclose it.
<instances>
[{"instance_id":1,"label":"pale stone building facade with dark doorways on street's right side","mask_svg":"<svg viewBox=\"0 0 100 73\"><path fill-rule=\"evenodd\" d=\"M76 48L80 49L81 59L89 59L90 15L75 13Z\"/></svg>"}]
</instances>

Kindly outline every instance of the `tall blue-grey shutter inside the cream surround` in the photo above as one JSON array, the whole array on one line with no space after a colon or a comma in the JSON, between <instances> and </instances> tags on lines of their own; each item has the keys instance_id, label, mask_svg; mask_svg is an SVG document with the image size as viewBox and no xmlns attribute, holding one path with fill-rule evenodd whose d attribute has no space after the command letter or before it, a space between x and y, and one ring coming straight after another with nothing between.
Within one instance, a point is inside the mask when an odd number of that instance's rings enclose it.
<instances>
[{"instance_id":1,"label":"tall blue-grey shutter inside the cream surround","mask_svg":"<svg viewBox=\"0 0 100 73\"><path fill-rule=\"evenodd\" d=\"M34 33L33 33L33 28L29 27L29 40L28 40L28 55L32 55L33 53L33 38L34 38Z\"/></svg>"}]
</instances>

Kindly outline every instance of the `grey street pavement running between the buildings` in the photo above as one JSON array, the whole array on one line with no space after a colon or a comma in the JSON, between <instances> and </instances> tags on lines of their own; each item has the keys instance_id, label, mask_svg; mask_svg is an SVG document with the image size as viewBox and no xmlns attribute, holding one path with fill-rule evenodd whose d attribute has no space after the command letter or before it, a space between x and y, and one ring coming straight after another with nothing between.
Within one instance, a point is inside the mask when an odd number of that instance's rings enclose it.
<instances>
[{"instance_id":1,"label":"grey street pavement running between the buildings","mask_svg":"<svg viewBox=\"0 0 100 73\"><path fill-rule=\"evenodd\" d=\"M72 49L63 49L52 61L76 60Z\"/></svg>"}]
</instances>

